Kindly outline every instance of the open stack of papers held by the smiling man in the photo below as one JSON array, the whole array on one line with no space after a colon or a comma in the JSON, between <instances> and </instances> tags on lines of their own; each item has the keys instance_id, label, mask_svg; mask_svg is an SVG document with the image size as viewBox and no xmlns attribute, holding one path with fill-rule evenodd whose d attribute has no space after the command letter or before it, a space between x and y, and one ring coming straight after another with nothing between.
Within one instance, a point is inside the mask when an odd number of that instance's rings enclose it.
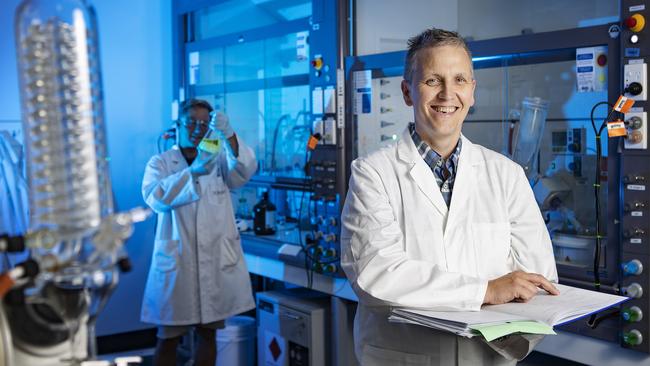
<instances>
[{"instance_id":1,"label":"open stack of papers held by the smiling man","mask_svg":"<svg viewBox=\"0 0 650 366\"><path fill-rule=\"evenodd\" d=\"M429 311L394 308L389 317L454 333L463 337L482 335L488 342L512 333L555 334L553 326L617 305L627 297L556 285L560 295L541 291L532 300L486 305L481 311Z\"/></svg>"}]
</instances>

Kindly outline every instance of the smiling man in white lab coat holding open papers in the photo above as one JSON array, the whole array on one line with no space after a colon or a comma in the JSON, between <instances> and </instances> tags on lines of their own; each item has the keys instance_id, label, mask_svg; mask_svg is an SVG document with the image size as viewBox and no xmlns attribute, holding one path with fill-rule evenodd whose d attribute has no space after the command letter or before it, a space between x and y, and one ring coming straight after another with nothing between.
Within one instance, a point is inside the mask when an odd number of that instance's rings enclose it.
<instances>
[{"instance_id":1,"label":"smiling man in white lab coat holding open papers","mask_svg":"<svg viewBox=\"0 0 650 366\"><path fill-rule=\"evenodd\" d=\"M479 310L559 294L551 241L523 169L461 135L474 104L469 49L455 32L409 40L402 92L415 123L352 163L341 264L359 297L362 365L509 365L535 339L494 344L391 323L391 306Z\"/></svg>"}]
</instances>

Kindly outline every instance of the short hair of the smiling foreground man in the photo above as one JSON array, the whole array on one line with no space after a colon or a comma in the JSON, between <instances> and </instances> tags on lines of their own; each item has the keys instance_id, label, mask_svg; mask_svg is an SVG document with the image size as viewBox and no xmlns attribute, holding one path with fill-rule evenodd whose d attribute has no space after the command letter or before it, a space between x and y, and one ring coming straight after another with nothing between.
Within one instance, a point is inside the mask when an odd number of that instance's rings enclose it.
<instances>
[{"instance_id":1,"label":"short hair of the smiling foreground man","mask_svg":"<svg viewBox=\"0 0 650 366\"><path fill-rule=\"evenodd\" d=\"M406 52L406 62L404 65L404 80L410 82L413 77L413 66L415 64L415 55L423 48L434 48L441 46L458 46L462 47L472 64L472 52L465 40L457 33L444 29L431 28L411 37L408 40L408 51Z\"/></svg>"}]
</instances>

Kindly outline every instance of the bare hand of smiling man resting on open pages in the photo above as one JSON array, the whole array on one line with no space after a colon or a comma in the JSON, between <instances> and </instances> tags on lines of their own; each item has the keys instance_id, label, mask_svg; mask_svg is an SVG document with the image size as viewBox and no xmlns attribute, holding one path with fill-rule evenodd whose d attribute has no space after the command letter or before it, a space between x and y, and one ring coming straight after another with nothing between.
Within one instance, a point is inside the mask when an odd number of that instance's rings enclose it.
<instances>
[{"instance_id":1,"label":"bare hand of smiling man resting on open pages","mask_svg":"<svg viewBox=\"0 0 650 366\"><path fill-rule=\"evenodd\" d=\"M551 295L560 294L560 291L544 276L515 271L489 281L483 303L497 305L513 300L526 302L537 295L538 288L546 290Z\"/></svg>"}]
</instances>

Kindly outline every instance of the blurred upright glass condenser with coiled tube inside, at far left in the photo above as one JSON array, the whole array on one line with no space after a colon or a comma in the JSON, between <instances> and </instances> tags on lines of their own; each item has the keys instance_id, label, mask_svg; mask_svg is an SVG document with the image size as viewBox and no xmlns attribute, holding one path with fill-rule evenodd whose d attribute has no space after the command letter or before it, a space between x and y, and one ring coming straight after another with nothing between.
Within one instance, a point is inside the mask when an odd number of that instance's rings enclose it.
<instances>
[{"instance_id":1,"label":"blurred upright glass condenser with coiled tube inside, at far left","mask_svg":"<svg viewBox=\"0 0 650 366\"><path fill-rule=\"evenodd\" d=\"M17 10L30 229L81 239L112 213L94 17L78 0Z\"/></svg>"}]
</instances>

